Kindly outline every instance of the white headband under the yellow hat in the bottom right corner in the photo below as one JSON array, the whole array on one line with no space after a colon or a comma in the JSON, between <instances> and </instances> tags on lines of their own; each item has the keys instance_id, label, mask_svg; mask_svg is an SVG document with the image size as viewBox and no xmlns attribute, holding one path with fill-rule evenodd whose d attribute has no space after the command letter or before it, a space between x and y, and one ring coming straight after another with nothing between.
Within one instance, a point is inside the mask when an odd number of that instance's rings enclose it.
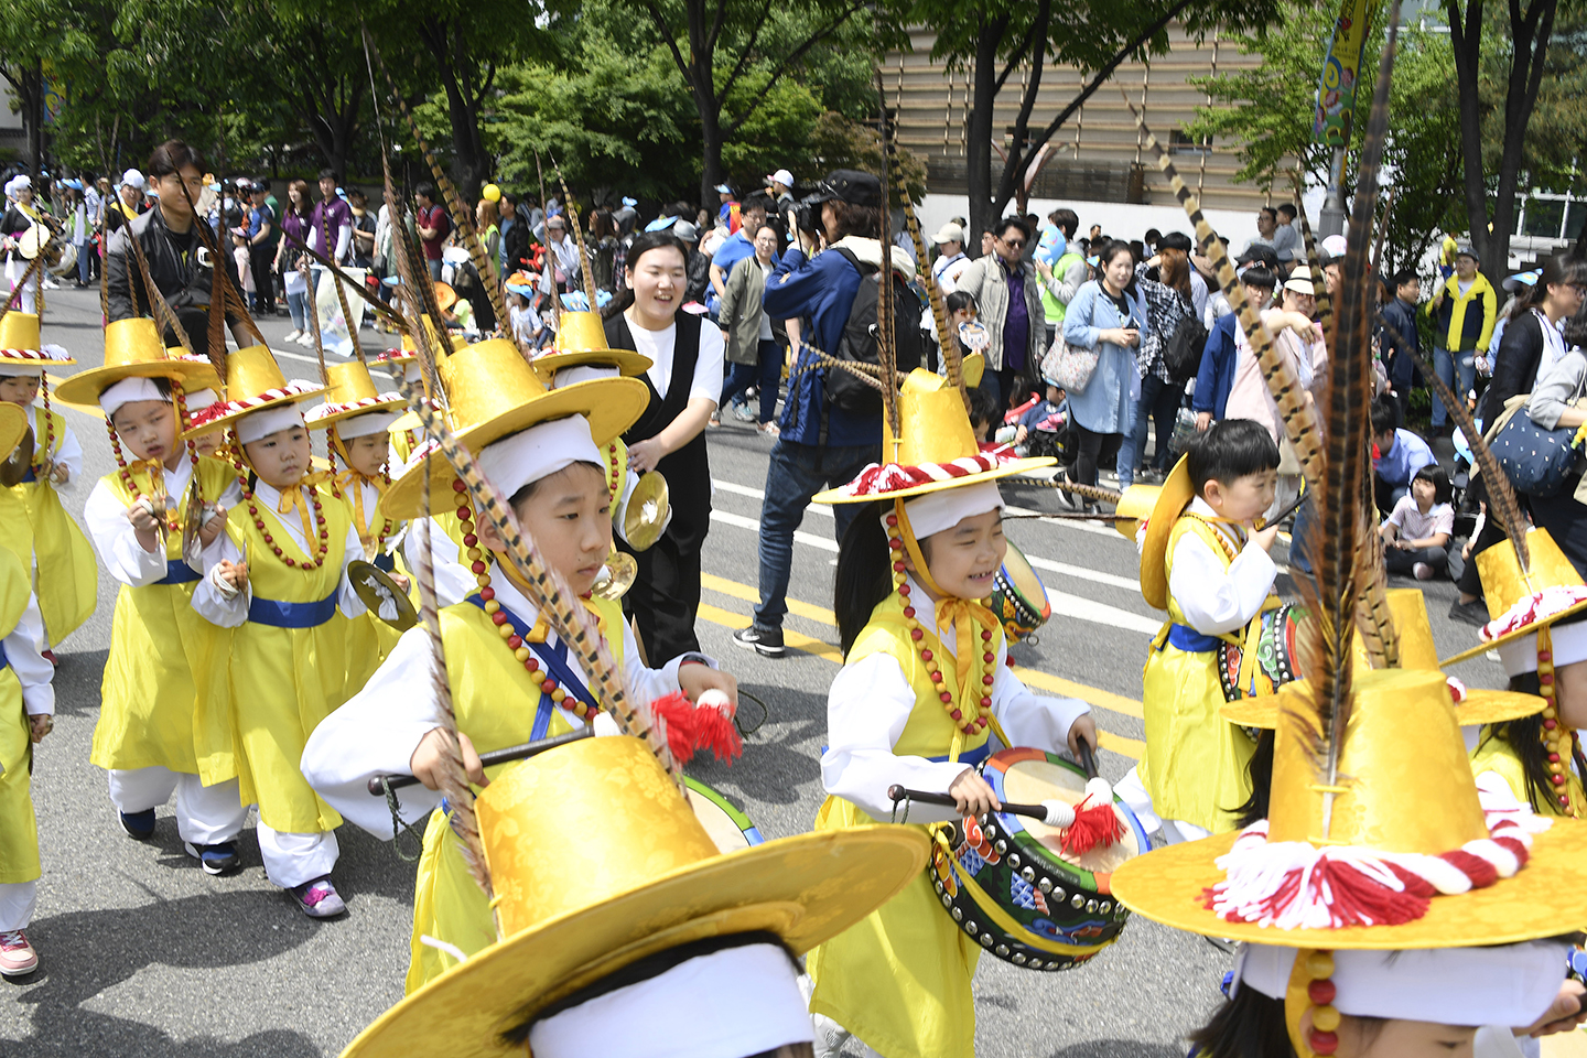
<instances>
[{"instance_id":1,"label":"white headband under the yellow hat in the bottom right corner","mask_svg":"<svg viewBox=\"0 0 1587 1058\"><path fill-rule=\"evenodd\" d=\"M1449 896L1444 899L1460 899ZM1536 1022L1565 980L1568 945L1550 941L1482 949L1333 952L1333 1006L1341 1014L1433 1025ZM1235 963L1238 980L1282 999L1295 969L1295 949L1246 944Z\"/></svg>"}]
</instances>

